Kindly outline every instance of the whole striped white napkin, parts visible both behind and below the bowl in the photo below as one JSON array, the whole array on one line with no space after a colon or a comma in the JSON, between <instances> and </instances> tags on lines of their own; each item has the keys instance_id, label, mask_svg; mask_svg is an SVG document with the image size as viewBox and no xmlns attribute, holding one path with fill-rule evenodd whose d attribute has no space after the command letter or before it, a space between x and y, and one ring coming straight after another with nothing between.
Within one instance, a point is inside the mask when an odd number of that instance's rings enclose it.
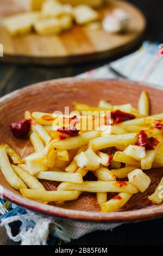
<instances>
[{"instance_id":1,"label":"whole striped white napkin, parts visible both behind and below the bowl","mask_svg":"<svg viewBox=\"0 0 163 256\"><path fill-rule=\"evenodd\" d=\"M163 58L161 45L144 42L140 50L105 65L91 70L78 77L86 78L129 78L133 81L151 83L154 86L163 86ZM22 245L57 244L58 239L68 242L71 239L88 234L95 230L112 230L116 224L84 223L59 218L47 217L22 209L0 199L0 222L7 228L10 239L21 241ZM19 233L12 236L10 223L21 221Z\"/></svg>"}]
</instances>

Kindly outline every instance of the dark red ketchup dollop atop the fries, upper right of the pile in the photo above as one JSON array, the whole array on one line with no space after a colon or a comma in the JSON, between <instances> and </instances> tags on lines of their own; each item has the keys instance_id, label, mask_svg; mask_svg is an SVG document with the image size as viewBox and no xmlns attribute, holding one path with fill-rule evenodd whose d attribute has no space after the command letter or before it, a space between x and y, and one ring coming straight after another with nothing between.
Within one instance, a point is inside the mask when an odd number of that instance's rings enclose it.
<instances>
[{"instance_id":1,"label":"dark red ketchup dollop atop the fries, upper right of the pile","mask_svg":"<svg viewBox=\"0 0 163 256\"><path fill-rule=\"evenodd\" d=\"M135 119L135 115L116 110L111 112L111 118L114 120L114 124L120 124L124 121Z\"/></svg>"}]
</instances>

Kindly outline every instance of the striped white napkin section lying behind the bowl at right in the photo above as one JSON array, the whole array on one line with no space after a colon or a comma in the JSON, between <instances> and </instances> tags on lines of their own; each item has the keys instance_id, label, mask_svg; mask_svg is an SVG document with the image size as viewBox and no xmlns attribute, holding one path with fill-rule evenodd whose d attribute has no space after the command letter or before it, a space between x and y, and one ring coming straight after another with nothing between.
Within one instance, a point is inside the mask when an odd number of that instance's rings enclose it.
<instances>
[{"instance_id":1,"label":"striped white napkin section lying behind the bowl at right","mask_svg":"<svg viewBox=\"0 0 163 256\"><path fill-rule=\"evenodd\" d=\"M163 45L145 41L141 48L128 56L78 77L128 78L163 86Z\"/></svg>"}]
</instances>

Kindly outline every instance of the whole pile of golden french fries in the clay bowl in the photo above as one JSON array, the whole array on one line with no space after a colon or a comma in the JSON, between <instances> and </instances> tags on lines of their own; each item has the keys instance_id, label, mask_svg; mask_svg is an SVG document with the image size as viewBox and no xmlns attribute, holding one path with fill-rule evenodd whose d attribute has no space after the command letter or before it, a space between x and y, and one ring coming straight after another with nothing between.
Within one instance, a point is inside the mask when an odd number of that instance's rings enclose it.
<instances>
[{"instance_id":1,"label":"whole pile of golden french fries in the clay bowl","mask_svg":"<svg viewBox=\"0 0 163 256\"><path fill-rule=\"evenodd\" d=\"M21 159L8 144L1 144L1 172L9 184L28 199L63 203L78 199L83 192L91 192L97 194L103 212L121 210L133 194L143 193L151 184L144 170L163 167L163 113L149 115L145 91L141 93L137 109L129 103L114 106L101 100L98 107L76 102L74 110L88 111L89 114L80 116L83 123L93 111L105 114L118 110L135 118L98 129L93 124L92 130L87 126L78 130L79 122L76 122L74 133L67 133L54 125L58 116L26 111L25 119L31 120L29 138L34 153ZM153 148L136 144L142 131L147 141L156 142ZM93 181L87 181L87 173L93 175ZM58 181L60 185L57 191L46 191L41 180ZM162 185L163 179L148 197L153 203L162 203L159 196ZM109 192L115 193L110 200L107 199Z\"/></svg>"}]
</instances>

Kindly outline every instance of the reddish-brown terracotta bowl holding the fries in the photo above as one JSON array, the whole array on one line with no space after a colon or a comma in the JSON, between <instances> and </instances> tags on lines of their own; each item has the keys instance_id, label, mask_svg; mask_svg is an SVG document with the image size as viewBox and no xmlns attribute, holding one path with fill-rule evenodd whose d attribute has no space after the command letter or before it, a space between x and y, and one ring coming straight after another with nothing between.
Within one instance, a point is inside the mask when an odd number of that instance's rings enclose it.
<instances>
[{"instance_id":1,"label":"reddish-brown terracotta bowl holding the fries","mask_svg":"<svg viewBox=\"0 0 163 256\"><path fill-rule=\"evenodd\" d=\"M32 145L26 140L13 138L9 131L9 124L22 119L26 109L29 111L64 111L65 106L72 107L74 100L97 105L100 99L111 100L116 105L131 102L136 107L142 89L146 89L151 98L151 112L163 112L163 91L126 80L66 78L34 84L17 90L0 99L0 141L8 142L21 156L25 156L32 152ZM95 194L84 193L78 200L64 205L45 205L23 198L19 192L8 185L2 174L0 174L0 185L3 188L4 198L36 212L76 220L126 222L163 215L163 205L152 205L147 199L159 184L163 176L163 169L148 170L148 175L151 177L152 183L145 193L133 196L121 211L108 214L100 212ZM43 183L47 190L57 187L56 182L44 181Z\"/></svg>"}]
</instances>

